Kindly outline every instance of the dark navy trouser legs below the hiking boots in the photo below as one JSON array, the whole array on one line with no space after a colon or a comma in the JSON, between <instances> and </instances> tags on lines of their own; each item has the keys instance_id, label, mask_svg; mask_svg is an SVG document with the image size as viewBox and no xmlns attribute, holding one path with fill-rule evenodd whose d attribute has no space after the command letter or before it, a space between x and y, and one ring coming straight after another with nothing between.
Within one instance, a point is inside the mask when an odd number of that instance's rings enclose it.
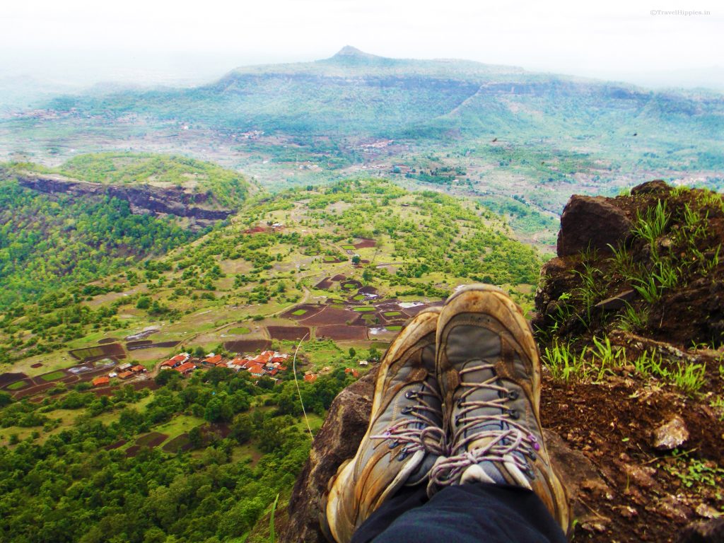
<instances>
[{"instance_id":1,"label":"dark navy trouser legs below the hiking boots","mask_svg":"<svg viewBox=\"0 0 724 543\"><path fill-rule=\"evenodd\" d=\"M403 489L355 532L353 543L565 543L534 492L500 484Z\"/></svg>"}]
</instances>

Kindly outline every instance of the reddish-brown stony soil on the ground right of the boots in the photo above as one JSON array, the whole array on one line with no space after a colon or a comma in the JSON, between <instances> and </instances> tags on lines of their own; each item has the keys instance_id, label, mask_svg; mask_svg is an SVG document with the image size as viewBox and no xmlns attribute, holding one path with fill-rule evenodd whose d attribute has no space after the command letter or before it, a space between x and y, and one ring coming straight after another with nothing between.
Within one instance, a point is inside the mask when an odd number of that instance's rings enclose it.
<instances>
[{"instance_id":1,"label":"reddish-brown stony soil on the ground right of the boots","mask_svg":"<svg viewBox=\"0 0 724 543\"><path fill-rule=\"evenodd\" d=\"M652 430L677 414L690 432L683 448L694 458L723 466L724 422L705 404L623 376L603 384L545 378L541 414L544 426L583 452L610 489L590 492L586 505L600 519L576 526L576 539L670 542L678 529L696 520L697 505L720 507L714 487L686 488L667 471L675 458L651 445Z\"/></svg>"}]
</instances>

